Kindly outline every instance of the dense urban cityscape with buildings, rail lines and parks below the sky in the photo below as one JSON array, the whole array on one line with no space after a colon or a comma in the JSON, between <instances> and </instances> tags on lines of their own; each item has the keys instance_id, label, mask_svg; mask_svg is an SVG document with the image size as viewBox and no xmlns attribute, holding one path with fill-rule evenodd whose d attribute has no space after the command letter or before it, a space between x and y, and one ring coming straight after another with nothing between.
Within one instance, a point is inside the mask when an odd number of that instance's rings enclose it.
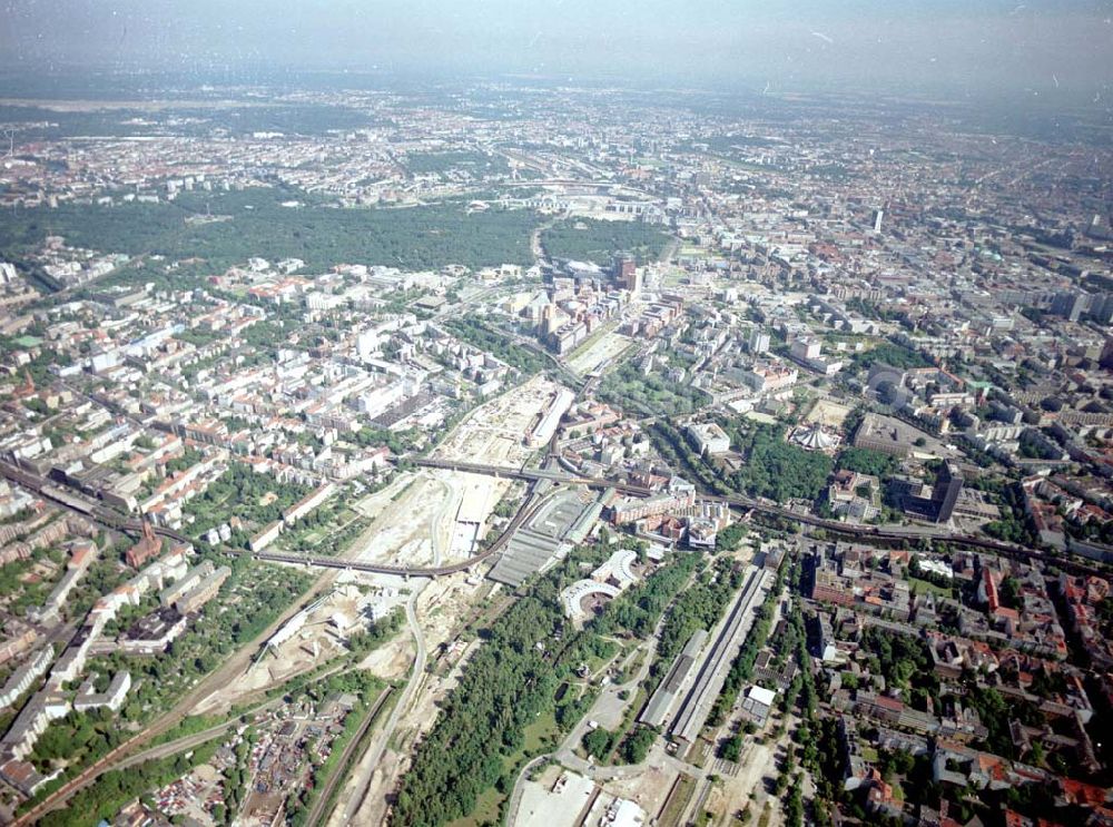
<instances>
[{"instance_id":1,"label":"dense urban cityscape with buildings, rail lines and parks below the sky","mask_svg":"<svg viewBox=\"0 0 1113 827\"><path fill-rule=\"evenodd\" d=\"M87 82L0 104L0 823L1113 824L1107 117Z\"/></svg>"}]
</instances>

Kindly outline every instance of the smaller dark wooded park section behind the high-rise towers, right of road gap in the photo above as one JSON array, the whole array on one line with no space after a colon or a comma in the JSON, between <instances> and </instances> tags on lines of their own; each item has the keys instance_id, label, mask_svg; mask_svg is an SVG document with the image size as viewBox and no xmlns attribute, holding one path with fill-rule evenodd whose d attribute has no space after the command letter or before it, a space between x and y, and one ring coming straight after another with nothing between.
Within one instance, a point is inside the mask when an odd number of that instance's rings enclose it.
<instances>
[{"instance_id":1,"label":"smaller dark wooded park section behind the high-rise towers, right of road gap","mask_svg":"<svg viewBox=\"0 0 1113 827\"><path fill-rule=\"evenodd\" d=\"M556 221L541 232L541 246L550 258L610 265L615 256L630 255L639 263L657 260L671 237L641 221L575 218Z\"/></svg>"}]
</instances>

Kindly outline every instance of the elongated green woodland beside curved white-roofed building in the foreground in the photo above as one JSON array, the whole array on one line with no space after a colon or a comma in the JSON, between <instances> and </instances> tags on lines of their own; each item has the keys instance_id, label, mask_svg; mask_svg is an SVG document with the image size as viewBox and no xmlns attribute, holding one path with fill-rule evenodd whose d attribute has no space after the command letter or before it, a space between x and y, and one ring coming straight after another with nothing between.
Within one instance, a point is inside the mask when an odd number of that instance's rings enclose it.
<instances>
[{"instance_id":1,"label":"elongated green woodland beside curved white-roofed building in the foreground","mask_svg":"<svg viewBox=\"0 0 1113 827\"><path fill-rule=\"evenodd\" d=\"M418 747L402 780L392 824L445 824L470 814L492 787L509 794L516 775L513 761L524 751L525 728L546 712L562 730L579 720L592 695L573 689L575 670L593 654L605 653L605 634L650 633L693 571L693 555L671 560L612 601L584 630L572 631L559 608L560 590L582 577L581 562L598 562L607 551L573 552L481 630L485 642ZM609 752L613 737L605 731L594 736L592 750ZM637 756L647 737L636 736L628 755Z\"/></svg>"}]
</instances>

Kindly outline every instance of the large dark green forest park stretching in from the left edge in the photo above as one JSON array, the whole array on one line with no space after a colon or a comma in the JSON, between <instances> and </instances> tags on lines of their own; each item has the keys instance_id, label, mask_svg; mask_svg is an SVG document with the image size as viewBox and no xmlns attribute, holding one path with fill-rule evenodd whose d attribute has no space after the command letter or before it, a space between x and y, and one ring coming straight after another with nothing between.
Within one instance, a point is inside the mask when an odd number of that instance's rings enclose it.
<instances>
[{"instance_id":1,"label":"large dark green forest park stretching in from the left edge","mask_svg":"<svg viewBox=\"0 0 1113 827\"><path fill-rule=\"evenodd\" d=\"M460 205L283 207L289 199L304 204L308 197L297 190L264 188L184 193L162 204L32 207L0 225L0 249L32 247L49 235L60 235L68 244L105 253L200 257L215 269L246 262L263 250L276 259L301 258L318 272L352 262L413 269L532 262L530 234L536 217L529 210L467 214ZM187 217L207 209L233 218L186 224Z\"/></svg>"}]
</instances>

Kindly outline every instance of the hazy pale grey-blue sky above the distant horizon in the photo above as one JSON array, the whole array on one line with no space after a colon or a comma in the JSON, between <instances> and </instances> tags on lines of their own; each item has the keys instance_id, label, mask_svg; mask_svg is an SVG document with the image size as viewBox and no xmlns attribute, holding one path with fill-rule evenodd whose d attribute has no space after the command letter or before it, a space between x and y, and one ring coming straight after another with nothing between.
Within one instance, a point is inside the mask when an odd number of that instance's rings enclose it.
<instances>
[{"instance_id":1,"label":"hazy pale grey-blue sky above the distant horizon","mask_svg":"<svg viewBox=\"0 0 1113 827\"><path fill-rule=\"evenodd\" d=\"M266 62L1102 104L1113 85L1113 0L0 1L0 50L22 69Z\"/></svg>"}]
</instances>

